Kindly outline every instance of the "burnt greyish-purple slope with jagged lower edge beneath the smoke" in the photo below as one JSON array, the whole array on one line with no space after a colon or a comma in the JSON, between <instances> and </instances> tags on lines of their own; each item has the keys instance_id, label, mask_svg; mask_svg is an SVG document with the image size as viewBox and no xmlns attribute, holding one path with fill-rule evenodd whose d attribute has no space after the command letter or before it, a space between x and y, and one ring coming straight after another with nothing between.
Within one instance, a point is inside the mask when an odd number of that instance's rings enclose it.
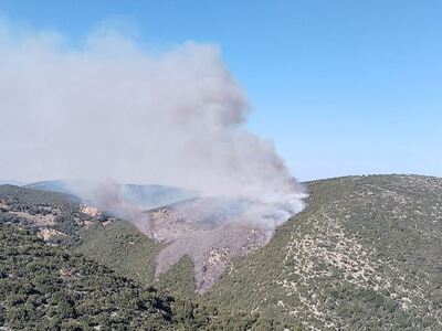
<instances>
[{"instance_id":1,"label":"burnt greyish-purple slope with jagged lower edge beneath the smoke","mask_svg":"<svg viewBox=\"0 0 442 331\"><path fill-rule=\"evenodd\" d=\"M269 243L273 227L253 221L272 212L263 204L220 197L192 199L148 212L146 234L166 246L155 259L157 278L188 256L196 291L204 293L233 258Z\"/></svg>"}]
</instances>

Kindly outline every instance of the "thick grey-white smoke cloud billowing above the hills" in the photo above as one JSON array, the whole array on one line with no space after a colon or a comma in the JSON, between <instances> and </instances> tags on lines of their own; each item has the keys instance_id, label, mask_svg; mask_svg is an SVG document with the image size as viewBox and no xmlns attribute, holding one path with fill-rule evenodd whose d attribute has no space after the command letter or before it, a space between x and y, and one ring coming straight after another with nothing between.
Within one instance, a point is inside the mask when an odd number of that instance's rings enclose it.
<instances>
[{"instance_id":1,"label":"thick grey-white smoke cloud billowing above the hills","mask_svg":"<svg viewBox=\"0 0 442 331\"><path fill-rule=\"evenodd\" d=\"M301 205L217 46L150 54L115 32L82 47L0 26L0 177L161 183Z\"/></svg>"}]
</instances>

